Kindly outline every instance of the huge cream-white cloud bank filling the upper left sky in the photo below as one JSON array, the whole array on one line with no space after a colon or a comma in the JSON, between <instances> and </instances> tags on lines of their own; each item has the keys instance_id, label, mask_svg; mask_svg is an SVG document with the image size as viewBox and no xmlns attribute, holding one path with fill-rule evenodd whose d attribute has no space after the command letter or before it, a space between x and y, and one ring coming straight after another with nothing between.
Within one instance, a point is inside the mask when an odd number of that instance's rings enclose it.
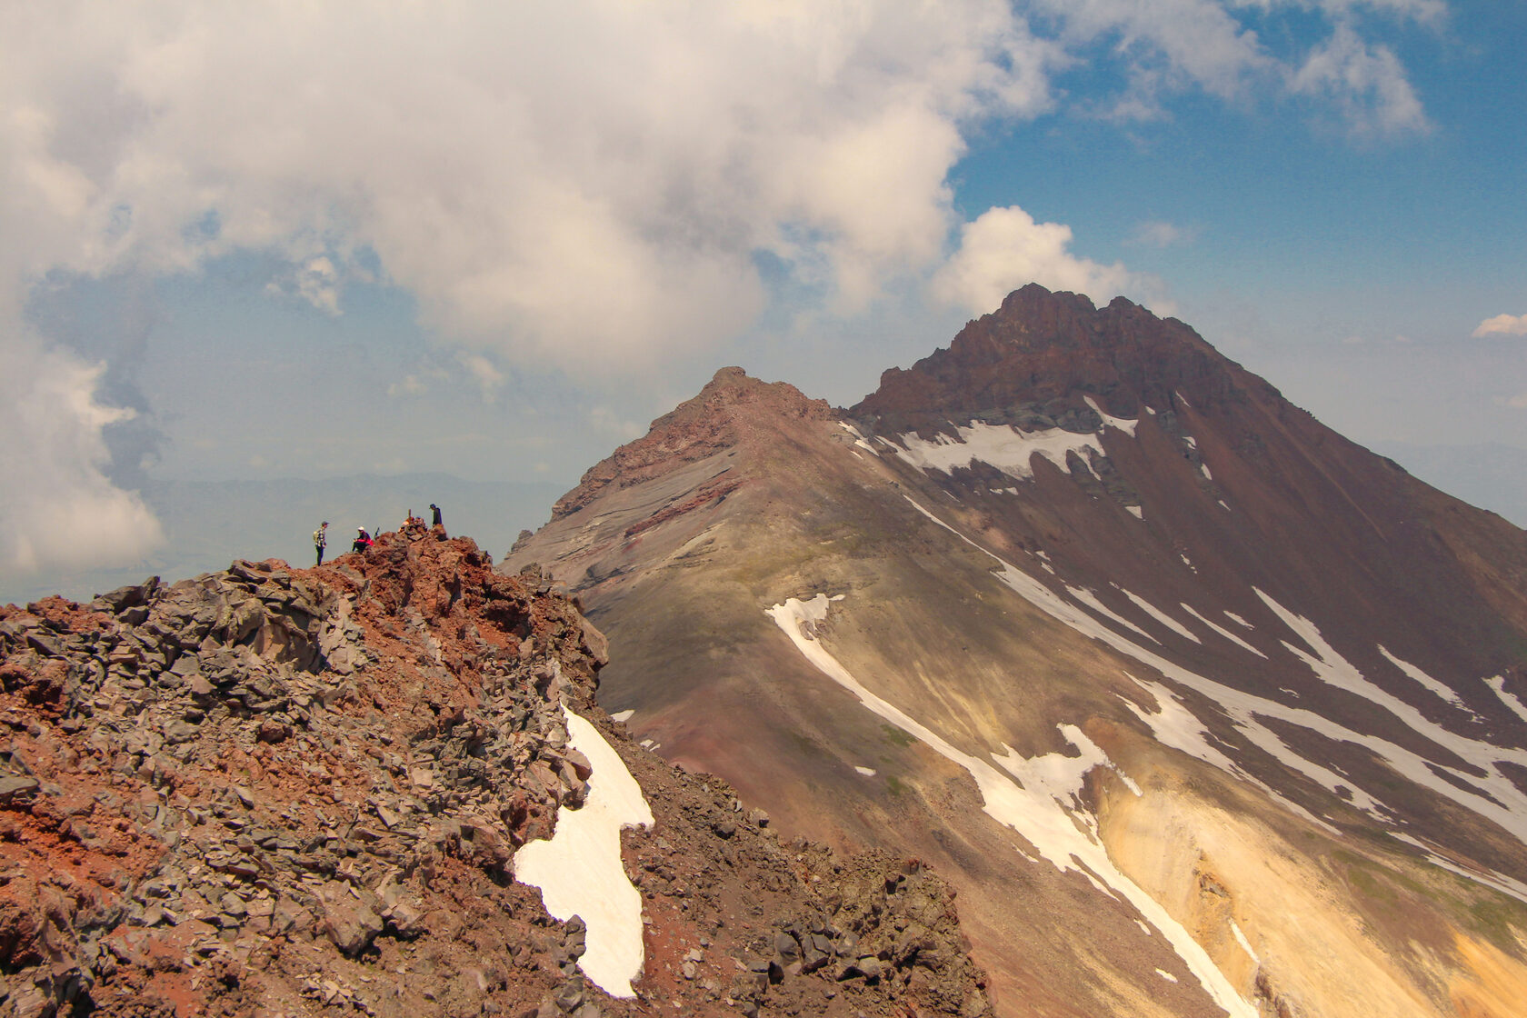
<instances>
[{"instance_id":1,"label":"huge cream-white cloud bank filling the upper left sky","mask_svg":"<svg viewBox=\"0 0 1527 1018\"><path fill-rule=\"evenodd\" d=\"M0 31L24 269L273 249L337 313L370 249L447 337L611 371L750 324L759 250L849 305L928 266L962 125L1046 108L1060 60L997 0L66 2Z\"/></svg>"}]
</instances>

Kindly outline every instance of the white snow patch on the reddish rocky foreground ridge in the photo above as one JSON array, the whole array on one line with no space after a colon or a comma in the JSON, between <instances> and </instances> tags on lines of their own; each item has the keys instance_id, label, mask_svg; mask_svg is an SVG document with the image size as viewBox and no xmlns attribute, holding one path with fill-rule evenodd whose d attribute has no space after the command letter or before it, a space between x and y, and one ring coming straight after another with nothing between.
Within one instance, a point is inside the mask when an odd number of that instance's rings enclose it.
<instances>
[{"instance_id":1,"label":"white snow patch on the reddish rocky foreground ridge","mask_svg":"<svg viewBox=\"0 0 1527 1018\"><path fill-rule=\"evenodd\" d=\"M651 827L641 786L594 725L567 707L568 745L588 757L594 774L582 809L557 807L551 839L515 853L515 879L541 888L556 919L582 916L588 925L583 975L611 997L635 997L641 975L641 894L620 859L620 830Z\"/></svg>"}]
</instances>

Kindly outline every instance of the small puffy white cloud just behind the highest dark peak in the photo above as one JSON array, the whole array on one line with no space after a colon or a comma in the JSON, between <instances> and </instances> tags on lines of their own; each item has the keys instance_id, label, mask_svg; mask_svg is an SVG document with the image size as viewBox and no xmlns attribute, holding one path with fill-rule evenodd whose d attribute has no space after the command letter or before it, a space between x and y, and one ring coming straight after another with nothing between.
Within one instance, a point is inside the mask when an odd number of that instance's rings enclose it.
<instances>
[{"instance_id":1,"label":"small puffy white cloud just behind the highest dark peak","mask_svg":"<svg viewBox=\"0 0 1527 1018\"><path fill-rule=\"evenodd\" d=\"M968 311L985 313L1026 282L1086 293L1095 304L1154 288L1153 281L1119 263L1102 266L1072 255L1069 247L1069 226L1035 223L1017 206L988 209L962 227L959 249L933 278L933 293Z\"/></svg>"}]
</instances>

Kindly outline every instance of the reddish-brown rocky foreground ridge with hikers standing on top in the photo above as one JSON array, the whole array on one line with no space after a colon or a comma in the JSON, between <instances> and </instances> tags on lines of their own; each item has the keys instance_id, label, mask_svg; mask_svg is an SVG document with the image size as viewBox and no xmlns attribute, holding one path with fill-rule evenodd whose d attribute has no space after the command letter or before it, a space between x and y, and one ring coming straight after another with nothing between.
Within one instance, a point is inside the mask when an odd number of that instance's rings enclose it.
<instances>
[{"instance_id":1,"label":"reddish-brown rocky foreground ridge with hikers standing on top","mask_svg":"<svg viewBox=\"0 0 1527 1018\"><path fill-rule=\"evenodd\" d=\"M415 525L0 609L0 1015L989 1013L944 881L637 746L550 586Z\"/></svg>"}]
</instances>

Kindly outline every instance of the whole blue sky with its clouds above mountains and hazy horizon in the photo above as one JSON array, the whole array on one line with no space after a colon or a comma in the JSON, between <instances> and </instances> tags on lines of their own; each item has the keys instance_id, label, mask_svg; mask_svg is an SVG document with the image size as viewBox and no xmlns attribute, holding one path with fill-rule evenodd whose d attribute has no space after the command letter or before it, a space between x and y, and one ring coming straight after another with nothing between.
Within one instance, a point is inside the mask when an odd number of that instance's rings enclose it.
<instances>
[{"instance_id":1,"label":"whole blue sky with its clouds above mountains and hazy horizon","mask_svg":"<svg viewBox=\"0 0 1527 1018\"><path fill-rule=\"evenodd\" d=\"M154 479L570 487L722 365L847 404L1029 281L1176 314L1365 444L1527 450L1527 5L56 3L0 38L0 595L183 537Z\"/></svg>"}]
</instances>

